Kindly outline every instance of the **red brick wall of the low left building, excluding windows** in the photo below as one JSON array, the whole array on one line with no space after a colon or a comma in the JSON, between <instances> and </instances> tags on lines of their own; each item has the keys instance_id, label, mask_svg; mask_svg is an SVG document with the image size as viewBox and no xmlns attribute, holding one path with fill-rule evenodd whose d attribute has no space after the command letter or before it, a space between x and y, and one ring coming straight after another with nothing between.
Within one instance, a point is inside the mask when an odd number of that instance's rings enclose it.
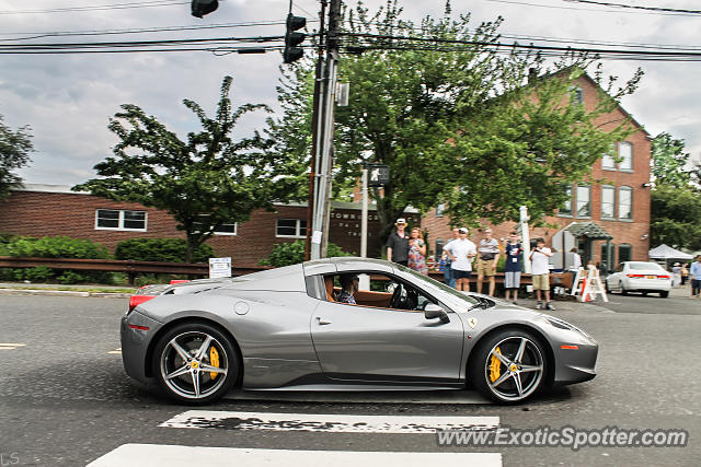
<instances>
[{"instance_id":1,"label":"red brick wall of the low left building, excluding windows","mask_svg":"<svg viewBox=\"0 0 701 467\"><path fill-rule=\"evenodd\" d=\"M146 232L95 230L97 209L127 209L146 211ZM377 215L369 213L368 253L379 252ZM269 255L273 245L297 238L276 237L277 219L307 219L307 208L277 206L276 212L257 210L251 220L238 225L237 235L215 235L207 243L217 256L231 256L235 266L256 266ZM360 252L360 211L334 209L331 213L330 240L344 250ZM0 203L0 232L28 236L67 235L101 243L114 252L117 243L127 238L185 238L175 229L175 221L166 212L145 208L138 203L114 202L103 198L49 191L14 191Z\"/></svg>"}]
</instances>

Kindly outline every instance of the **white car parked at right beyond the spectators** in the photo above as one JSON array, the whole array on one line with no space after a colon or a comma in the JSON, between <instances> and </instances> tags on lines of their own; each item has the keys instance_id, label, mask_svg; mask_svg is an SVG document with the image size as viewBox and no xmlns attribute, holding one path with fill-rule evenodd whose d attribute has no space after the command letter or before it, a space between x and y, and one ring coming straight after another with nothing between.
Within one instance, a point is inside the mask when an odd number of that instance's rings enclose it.
<instances>
[{"instance_id":1,"label":"white car parked at right beyond the spectators","mask_svg":"<svg viewBox=\"0 0 701 467\"><path fill-rule=\"evenodd\" d=\"M606 278L607 292L659 293L663 299L669 295L671 273L656 262L623 261L616 272Z\"/></svg>"}]
</instances>

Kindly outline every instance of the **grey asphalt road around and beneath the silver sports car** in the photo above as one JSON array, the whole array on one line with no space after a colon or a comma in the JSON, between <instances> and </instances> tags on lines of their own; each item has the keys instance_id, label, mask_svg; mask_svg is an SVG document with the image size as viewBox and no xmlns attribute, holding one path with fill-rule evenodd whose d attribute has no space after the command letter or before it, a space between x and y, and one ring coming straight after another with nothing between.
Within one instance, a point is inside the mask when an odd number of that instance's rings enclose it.
<instances>
[{"instance_id":1,"label":"grey asphalt road around and beneath the silver sports car","mask_svg":"<svg viewBox=\"0 0 701 467\"><path fill-rule=\"evenodd\" d=\"M125 444L148 443L332 451L335 454L329 465L340 465L346 459L344 453L354 452L499 453L506 466L699 465L701 301L613 295L609 304L599 305L563 302L553 312L599 340L599 375L588 383L551 390L524 406L475 404L479 398L464 392L430 397L393 393L367 399L363 395L332 396L324 402L303 401L309 395L287 400L267 395L258 400L227 399L207 409L260 417L357 416L369 422L378 416L416 420L496 417L502 427L513 428L686 429L690 434L686 447L609 446L577 452L567 447L439 447L435 435L428 433L159 427L192 407L171 405L124 374L117 349L125 300L0 296L0 367L4 370L0 376L0 464L83 466ZM287 455L292 458L294 454ZM348 465L374 465L375 460L365 456L348 457ZM418 456L414 458L423 458ZM403 459L399 454L393 458ZM437 459L427 457L424 465ZM470 465L469 457L458 459ZM122 462L128 463L126 457ZM382 465L388 464L383 460ZM487 464L478 459L473 465Z\"/></svg>"}]
</instances>

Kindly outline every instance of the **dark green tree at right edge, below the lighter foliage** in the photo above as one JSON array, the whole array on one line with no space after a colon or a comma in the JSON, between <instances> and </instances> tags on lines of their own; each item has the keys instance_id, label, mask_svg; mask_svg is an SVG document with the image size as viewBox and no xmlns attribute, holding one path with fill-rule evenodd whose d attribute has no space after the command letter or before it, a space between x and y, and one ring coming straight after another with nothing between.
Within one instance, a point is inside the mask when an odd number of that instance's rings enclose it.
<instances>
[{"instance_id":1,"label":"dark green tree at right edge, below the lighter foliage","mask_svg":"<svg viewBox=\"0 0 701 467\"><path fill-rule=\"evenodd\" d=\"M658 185L651 192L651 242L701 249L701 192Z\"/></svg>"}]
</instances>

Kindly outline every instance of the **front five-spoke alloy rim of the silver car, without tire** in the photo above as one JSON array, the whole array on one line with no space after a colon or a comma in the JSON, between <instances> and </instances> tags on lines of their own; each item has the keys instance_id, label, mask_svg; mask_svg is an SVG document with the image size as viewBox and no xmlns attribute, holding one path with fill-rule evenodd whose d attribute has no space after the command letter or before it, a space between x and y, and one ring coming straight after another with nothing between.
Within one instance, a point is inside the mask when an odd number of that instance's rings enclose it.
<instances>
[{"instance_id":1,"label":"front five-spoke alloy rim of the silver car, without tire","mask_svg":"<svg viewBox=\"0 0 701 467\"><path fill-rule=\"evenodd\" d=\"M499 340L487 354L484 367L487 387L505 401L530 396L540 386L543 373L540 347L524 336Z\"/></svg>"}]
</instances>

